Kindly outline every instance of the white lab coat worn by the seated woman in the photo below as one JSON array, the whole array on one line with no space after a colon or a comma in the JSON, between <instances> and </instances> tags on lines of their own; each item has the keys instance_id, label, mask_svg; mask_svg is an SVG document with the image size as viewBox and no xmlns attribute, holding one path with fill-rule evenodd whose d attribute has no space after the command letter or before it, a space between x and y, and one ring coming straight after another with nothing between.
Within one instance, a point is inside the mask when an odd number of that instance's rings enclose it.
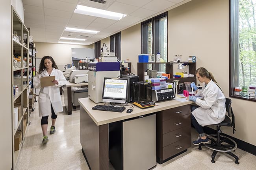
<instances>
[{"instance_id":1,"label":"white lab coat worn by the seated woman","mask_svg":"<svg viewBox=\"0 0 256 170\"><path fill-rule=\"evenodd\" d=\"M197 98L196 104L200 107L192 112L201 126L217 124L225 119L226 99L215 82L211 80L202 91L198 90L196 96L204 98Z\"/></svg>"}]
</instances>

